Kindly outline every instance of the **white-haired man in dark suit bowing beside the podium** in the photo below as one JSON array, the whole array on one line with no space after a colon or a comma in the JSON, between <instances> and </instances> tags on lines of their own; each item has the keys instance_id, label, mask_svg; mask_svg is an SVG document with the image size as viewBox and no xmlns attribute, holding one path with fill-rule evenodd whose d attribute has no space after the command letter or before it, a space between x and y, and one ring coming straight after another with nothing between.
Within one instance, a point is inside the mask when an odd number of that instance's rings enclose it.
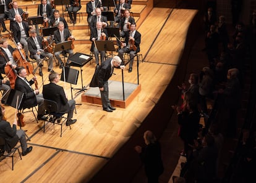
<instances>
[{"instance_id":1,"label":"white-haired man in dark suit bowing beside the podium","mask_svg":"<svg viewBox=\"0 0 256 183\"><path fill-rule=\"evenodd\" d=\"M101 62L100 70L98 71L98 86L100 88L101 102L103 110L106 112L113 112L116 108L112 107L108 98L108 79L112 76L114 67L124 69L124 65L121 65L122 60L115 56L106 59Z\"/></svg>"}]
</instances>

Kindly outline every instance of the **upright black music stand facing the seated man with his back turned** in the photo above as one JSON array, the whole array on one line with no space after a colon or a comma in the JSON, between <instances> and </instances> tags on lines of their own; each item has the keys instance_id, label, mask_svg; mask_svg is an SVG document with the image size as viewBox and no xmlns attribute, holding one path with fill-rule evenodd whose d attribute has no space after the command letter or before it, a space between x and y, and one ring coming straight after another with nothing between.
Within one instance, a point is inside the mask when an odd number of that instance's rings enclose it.
<instances>
[{"instance_id":1,"label":"upright black music stand facing the seated man with his back turned","mask_svg":"<svg viewBox=\"0 0 256 183\"><path fill-rule=\"evenodd\" d=\"M73 93L72 93L72 84L77 84L77 79L79 77L79 71L70 68L70 67L63 67L61 72L61 81L70 83L70 91L71 91L71 97L73 99Z\"/></svg>"}]
</instances>

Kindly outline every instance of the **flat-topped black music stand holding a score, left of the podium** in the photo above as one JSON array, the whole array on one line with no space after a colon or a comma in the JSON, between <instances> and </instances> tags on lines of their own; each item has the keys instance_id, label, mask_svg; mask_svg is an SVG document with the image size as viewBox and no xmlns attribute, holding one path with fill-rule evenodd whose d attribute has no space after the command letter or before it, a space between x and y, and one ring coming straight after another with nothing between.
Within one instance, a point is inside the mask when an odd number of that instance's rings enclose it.
<instances>
[{"instance_id":1,"label":"flat-topped black music stand holding a score, left of the podium","mask_svg":"<svg viewBox=\"0 0 256 183\"><path fill-rule=\"evenodd\" d=\"M80 52L77 52L74 55L72 55L71 57L69 57L69 66L80 67L82 87L76 88L76 89L79 89L79 91L77 93L86 90L86 88L83 86L82 67L83 67L83 65L88 63L90 60L92 60L92 57L90 55L82 54Z\"/></svg>"}]
</instances>

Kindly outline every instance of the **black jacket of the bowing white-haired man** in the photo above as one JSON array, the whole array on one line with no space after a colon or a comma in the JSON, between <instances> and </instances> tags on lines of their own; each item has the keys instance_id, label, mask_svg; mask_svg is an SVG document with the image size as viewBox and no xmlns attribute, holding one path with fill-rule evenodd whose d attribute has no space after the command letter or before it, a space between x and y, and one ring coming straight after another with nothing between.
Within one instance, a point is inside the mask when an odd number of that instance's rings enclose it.
<instances>
[{"instance_id":1,"label":"black jacket of the bowing white-haired man","mask_svg":"<svg viewBox=\"0 0 256 183\"><path fill-rule=\"evenodd\" d=\"M112 76L111 73L111 60L112 58L106 59L100 65L100 70L98 72L98 84L99 87L103 87L103 82L108 81L108 79Z\"/></svg>"}]
</instances>

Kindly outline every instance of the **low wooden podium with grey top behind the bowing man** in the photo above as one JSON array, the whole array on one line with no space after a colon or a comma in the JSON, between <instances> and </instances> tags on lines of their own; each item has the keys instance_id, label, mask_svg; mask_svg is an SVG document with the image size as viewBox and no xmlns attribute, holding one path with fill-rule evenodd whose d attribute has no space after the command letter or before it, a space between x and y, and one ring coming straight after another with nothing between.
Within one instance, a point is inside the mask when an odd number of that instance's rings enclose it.
<instances>
[{"instance_id":1,"label":"low wooden podium with grey top behind the bowing man","mask_svg":"<svg viewBox=\"0 0 256 183\"><path fill-rule=\"evenodd\" d=\"M112 106L126 108L130 102L139 94L141 90L140 84L124 83L124 100L122 94L122 82L108 81L109 100ZM90 87L82 95L82 102L101 105L100 89L98 87Z\"/></svg>"}]
</instances>

